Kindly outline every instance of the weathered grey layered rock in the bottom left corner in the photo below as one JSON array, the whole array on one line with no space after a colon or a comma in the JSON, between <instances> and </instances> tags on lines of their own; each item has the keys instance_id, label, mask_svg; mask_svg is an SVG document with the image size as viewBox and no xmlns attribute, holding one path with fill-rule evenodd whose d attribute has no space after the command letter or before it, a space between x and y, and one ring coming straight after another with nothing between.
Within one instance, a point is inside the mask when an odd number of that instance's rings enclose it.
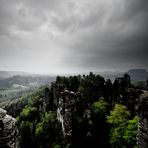
<instances>
[{"instance_id":1,"label":"weathered grey layered rock in the bottom left corner","mask_svg":"<svg viewBox=\"0 0 148 148\"><path fill-rule=\"evenodd\" d=\"M0 148L18 148L16 119L0 108Z\"/></svg>"}]
</instances>

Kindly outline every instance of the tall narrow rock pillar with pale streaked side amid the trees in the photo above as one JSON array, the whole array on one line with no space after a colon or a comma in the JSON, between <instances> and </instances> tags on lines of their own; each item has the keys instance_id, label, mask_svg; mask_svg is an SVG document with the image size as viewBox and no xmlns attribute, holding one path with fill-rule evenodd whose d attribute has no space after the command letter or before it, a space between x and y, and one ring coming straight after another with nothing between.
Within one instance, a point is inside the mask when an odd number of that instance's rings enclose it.
<instances>
[{"instance_id":1,"label":"tall narrow rock pillar with pale streaked side amid the trees","mask_svg":"<svg viewBox=\"0 0 148 148\"><path fill-rule=\"evenodd\" d=\"M62 125L62 132L66 143L71 143L72 121L76 111L77 94L65 90L59 96L57 118Z\"/></svg>"}]
</instances>

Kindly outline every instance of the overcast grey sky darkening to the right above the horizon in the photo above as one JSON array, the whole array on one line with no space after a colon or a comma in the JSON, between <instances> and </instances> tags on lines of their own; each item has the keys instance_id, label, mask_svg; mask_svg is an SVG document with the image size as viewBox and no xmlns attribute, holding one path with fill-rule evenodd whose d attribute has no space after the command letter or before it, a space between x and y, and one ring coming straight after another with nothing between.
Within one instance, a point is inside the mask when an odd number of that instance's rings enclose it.
<instances>
[{"instance_id":1,"label":"overcast grey sky darkening to the right above the horizon","mask_svg":"<svg viewBox=\"0 0 148 148\"><path fill-rule=\"evenodd\" d=\"M0 70L148 69L148 0L0 0Z\"/></svg>"}]
</instances>

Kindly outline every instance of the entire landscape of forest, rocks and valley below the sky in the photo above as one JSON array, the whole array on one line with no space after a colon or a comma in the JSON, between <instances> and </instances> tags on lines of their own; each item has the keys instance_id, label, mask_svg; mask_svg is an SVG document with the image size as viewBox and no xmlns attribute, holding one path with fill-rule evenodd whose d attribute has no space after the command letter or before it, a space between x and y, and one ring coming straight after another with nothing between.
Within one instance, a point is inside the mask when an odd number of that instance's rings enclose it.
<instances>
[{"instance_id":1,"label":"entire landscape of forest, rocks and valley below the sky","mask_svg":"<svg viewBox=\"0 0 148 148\"><path fill-rule=\"evenodd\" d=\"M148 72L0 73L0 148L146 148Z\"/></svg>"}]
</instances>

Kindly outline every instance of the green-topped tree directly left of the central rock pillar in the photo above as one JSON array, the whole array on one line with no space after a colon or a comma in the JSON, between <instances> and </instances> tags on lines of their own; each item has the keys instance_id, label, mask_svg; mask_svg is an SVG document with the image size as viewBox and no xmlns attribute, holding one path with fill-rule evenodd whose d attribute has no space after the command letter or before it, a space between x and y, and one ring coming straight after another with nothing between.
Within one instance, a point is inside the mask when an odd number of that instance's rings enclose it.
<instances>
[{"instance_id":1,"label":"green-topped tree directly left of the central rock pillar","mask_svg":"<svg viewBox=\"0 0 148 148\"><path fill-rule=\"evenodd\" d=\"M52 112L46 112L43 121L36 125L35 134L37 145L40 145L41 148L58 145L62 141L60 139L62 133L56 115Z\"/></svg>"}]
</instances>

